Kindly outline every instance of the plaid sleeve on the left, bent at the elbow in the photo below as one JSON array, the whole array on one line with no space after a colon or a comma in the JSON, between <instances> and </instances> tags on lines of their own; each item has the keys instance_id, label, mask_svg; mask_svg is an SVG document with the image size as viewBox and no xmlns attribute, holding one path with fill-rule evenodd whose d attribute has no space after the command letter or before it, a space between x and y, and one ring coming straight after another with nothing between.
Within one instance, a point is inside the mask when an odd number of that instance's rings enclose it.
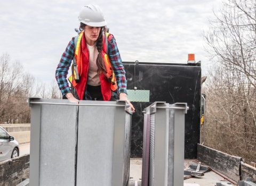
<instances>
[{"instance_id":1,"label":"plaid sleeve on the left, bent at the elbow","mask_svg":"<svg viewBox=\"0 0 256 186\"><path fill-rule=\"evenodd\" d=\"M67 74L74 56L75 56L75 43L74 43L74 37L73 37L71 41L69 41L69 44L65 52L62 54L60 62L56 69L56 73L55 73L55 78L58 82L59 89L63 96L66 95L68 92L71 92L68 81L67 81Z\"/></svg>"}]
</instances>

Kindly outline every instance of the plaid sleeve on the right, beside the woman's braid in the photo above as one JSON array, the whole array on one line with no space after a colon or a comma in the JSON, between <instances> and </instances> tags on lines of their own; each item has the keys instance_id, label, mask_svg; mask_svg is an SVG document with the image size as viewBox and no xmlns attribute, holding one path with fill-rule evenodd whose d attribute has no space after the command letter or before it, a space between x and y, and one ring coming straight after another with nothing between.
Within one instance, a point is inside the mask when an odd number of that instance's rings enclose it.
<instances>
[{"instance_id":1,"label":"plaid sleeve on the right, beside the woman's braid","mask_svg":"<svg viewBox=\"0 0 256 186\"><path fill-rule=\"evenodd\" d=\"M117 48L116 40L114 37L112 37L108 44L108 56L111 63L111 66L113 67L115 77L116 77L116 83L117 83L117 94L125 93L127 94L126 90L126 79L125 79L125 71L124 66L122 64L122 58L120 56L119 50Z\"/></svg>"}]
</instances>

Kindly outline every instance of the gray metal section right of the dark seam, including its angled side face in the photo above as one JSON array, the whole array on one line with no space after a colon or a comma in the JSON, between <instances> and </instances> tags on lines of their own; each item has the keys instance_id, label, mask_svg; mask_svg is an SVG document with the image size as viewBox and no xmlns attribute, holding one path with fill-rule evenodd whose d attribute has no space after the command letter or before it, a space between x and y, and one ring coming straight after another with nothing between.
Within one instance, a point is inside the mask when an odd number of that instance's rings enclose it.
<instances>
[{"instance_id":1,"label":"gray metal section right of the dark seam, including its angled side face","mask_svg":"<svg viewBox=\"0 0 256 186\"><path fill-rule=\"evenodd\" d=\"M131 114L124 102L80 101L76 185L126 186L129 179Z\"/></svg>"}]
</instances>

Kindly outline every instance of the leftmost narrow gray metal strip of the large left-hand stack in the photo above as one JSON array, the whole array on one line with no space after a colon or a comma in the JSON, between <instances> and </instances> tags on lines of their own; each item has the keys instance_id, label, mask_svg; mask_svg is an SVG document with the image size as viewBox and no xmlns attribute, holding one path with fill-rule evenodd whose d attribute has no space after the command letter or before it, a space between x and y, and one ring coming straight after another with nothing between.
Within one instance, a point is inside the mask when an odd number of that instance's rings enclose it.
<instances>
[{"instance_id":1,"label":"leftmost narrow gray metal strip of the large left-hand stack","mask_svg":"<svg viewBox=\"0 0 256 186\"><path fill-rule=\"evenodd\" d=\"M41 102L41 99L32 99ZM30 100L28 99L28 102ZM40 153L41 105L31 105L30 126L30 185L39 185L39 153Z\"/></svg>"}]
</instances>

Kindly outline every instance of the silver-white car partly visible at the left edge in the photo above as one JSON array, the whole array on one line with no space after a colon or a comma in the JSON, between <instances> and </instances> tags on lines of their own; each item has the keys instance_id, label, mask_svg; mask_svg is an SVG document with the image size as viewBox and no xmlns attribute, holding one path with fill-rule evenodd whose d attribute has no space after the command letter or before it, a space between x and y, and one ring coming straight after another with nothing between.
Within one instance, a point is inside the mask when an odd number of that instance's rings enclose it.
<instances>
[{"instance_id":1,"label":"silver-white car partly visible at the left edge","mask_svg":"<svg viewBox=\"0 0 256 186\"><path fill-rule=\"evenodd\" d=\"M19 143L0 126L0 162L19 156Z\"/></svg>"}]
</instances>

